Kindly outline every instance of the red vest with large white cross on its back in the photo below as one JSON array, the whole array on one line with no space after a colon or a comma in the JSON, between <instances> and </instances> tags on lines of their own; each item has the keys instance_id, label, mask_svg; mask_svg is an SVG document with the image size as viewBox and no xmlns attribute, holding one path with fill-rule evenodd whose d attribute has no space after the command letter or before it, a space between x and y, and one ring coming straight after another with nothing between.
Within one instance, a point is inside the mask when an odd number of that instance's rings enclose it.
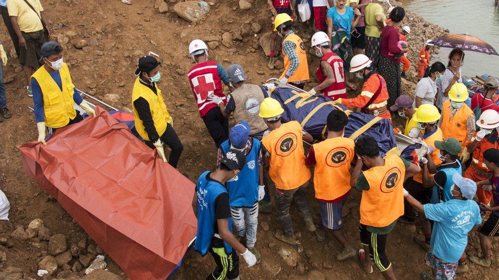
<instances>
[{"instance_id":1,"label":"red vest with large white cross on its back","mask_svg":"<svg viewBox=\"0 0 499 280\"><path fill-rule=\"evenodd\" d=\"M223 105L227 103L227 99L222 91L222 81L217 71L217 63L214 61L206 61L194 65L187 73L189 83L191 83L192 93L197 102L199 115L204 117L208 111L218 107L216 104L209 103L208 95L215 94L222 97Z\"/></svg>"}]
</instances>

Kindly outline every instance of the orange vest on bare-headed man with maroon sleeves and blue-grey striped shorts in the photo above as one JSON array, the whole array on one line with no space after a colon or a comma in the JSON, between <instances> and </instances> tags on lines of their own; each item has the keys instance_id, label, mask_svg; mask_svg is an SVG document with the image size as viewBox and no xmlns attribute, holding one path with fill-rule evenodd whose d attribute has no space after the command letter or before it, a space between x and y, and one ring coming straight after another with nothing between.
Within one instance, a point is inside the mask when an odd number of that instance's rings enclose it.
<instances>
[{"instance_id":1,"label":"orange vest on bare-headed man with maroon sleeves and blue-grey striped shorts","mask_svg":"<svg viewBox=\"0 0 499 280\"><path fill-rule=\"evenodd\" d=\"M350 163L355 142L345 137L328 138L312 145L315 153L315 198L334 200L350 191Z\"/></svg>"}]
</instances>

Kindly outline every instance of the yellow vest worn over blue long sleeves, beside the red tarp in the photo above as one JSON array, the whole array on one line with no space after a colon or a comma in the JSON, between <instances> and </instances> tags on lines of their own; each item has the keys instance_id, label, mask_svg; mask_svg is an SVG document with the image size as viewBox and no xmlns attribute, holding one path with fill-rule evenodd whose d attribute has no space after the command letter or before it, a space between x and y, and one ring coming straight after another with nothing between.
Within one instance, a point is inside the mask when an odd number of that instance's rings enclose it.
<instances>
[{"instance_id":1,"label":"yellow vest worn over blue long sleeves, beside the red tarp","mask_svg":"<svg viewBox=\"0 0 499 280\"><path fill-rule=\"evenodd\" d=\"M44 66L38 68L31 76L38 82L41 89L45 125L54 129L62 128L70 122L70 119L76 117L73 99L75 85L73 85L70 70L65 63L59 69L59 74L61 75L62 90Z\"/></svg>"}]
</instances>

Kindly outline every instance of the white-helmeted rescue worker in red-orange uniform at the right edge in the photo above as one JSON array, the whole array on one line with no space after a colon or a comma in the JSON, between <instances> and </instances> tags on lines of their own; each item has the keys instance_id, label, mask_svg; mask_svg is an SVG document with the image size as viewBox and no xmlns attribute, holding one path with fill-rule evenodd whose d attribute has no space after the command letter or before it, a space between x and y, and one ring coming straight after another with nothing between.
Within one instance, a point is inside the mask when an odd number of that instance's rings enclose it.
<instances>
[{"instance_id":1,"label":"white-helmeted rescue worker in red-orange uniform at the right edge","mask_svg":"<svg viewBox=\"0 0 499 280\"><path fill-rule=\"evenodd\" d=\"M492 170L485 165L483 153L488 149L499 148L499 113L489 109L482 112L477 120L477 125L480 130L475 135L473 142L467 146L468 151L472 154L470 166L464 172L464 176L474 182L484 181L492 175ZM478 200L485 205L488 205L492 199L492 191L490 187L478 188Z\"/></svg>"}]
</instances>

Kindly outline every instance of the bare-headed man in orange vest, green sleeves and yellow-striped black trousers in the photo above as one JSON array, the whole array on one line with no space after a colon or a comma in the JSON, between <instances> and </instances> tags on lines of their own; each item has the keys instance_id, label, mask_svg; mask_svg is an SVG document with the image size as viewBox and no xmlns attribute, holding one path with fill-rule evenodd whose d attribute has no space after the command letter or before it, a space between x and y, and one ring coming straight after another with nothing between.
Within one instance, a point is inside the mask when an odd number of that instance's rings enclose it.
<instances>
[{"instance_id":1,"label":"bare-headed man in orange vest, green sleeves and yellow-striped black trousers","mask_svg":"<svg viewBox=\"0 0 499 280\"><path fill-rule=\"evenodd\" d=\"M395 279L392 263L385 253L387 236L404 213L403 182L421 169L398 156L381 158L379 146L371 136L355 143L357 163L350 177L350 185L362 192L360 199L360 243L362 268L373 272L372 262L385 279ZM369 169L361 172L366 165ZM366 252L369 257L366 258Z\"/></svg>"}]
</instances>

